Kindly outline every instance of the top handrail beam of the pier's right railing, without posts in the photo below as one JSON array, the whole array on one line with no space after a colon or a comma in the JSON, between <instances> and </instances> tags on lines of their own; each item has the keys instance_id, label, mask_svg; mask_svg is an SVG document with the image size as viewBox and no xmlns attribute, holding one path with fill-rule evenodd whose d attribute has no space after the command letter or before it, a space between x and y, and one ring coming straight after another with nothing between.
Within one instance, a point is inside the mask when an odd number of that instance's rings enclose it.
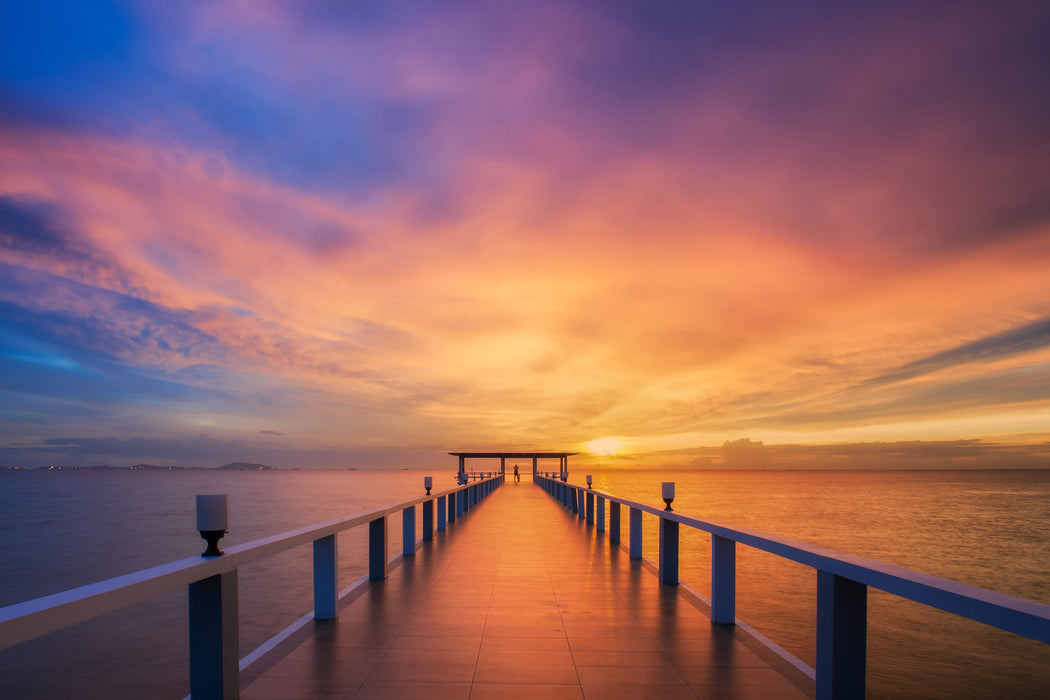
<instances>
[{"instance_id":1,"label":"top handrail beam of the pier's right railing, without posts","mask_svg":"<svg viewBox=\"0 0 1050 700\"><path fill-rule=\"evenodd\" d=\"M540 478L549 479L542 475ZM551 481L564 483L560 480ZM741 545L802 564L818 571L826 571L908 600L1050 643L1050 604L1047 603L990 591L877 559L843 554L825 547L810 545L759 530L734 527L724 523L687 515L679 511L664 510L606 491L588 489L586 486L578 484L566 484L566 486L594 493L610 503L618 503L667 521L710 532L713 535L738 542Z\"/></svg>"}]
</instances>

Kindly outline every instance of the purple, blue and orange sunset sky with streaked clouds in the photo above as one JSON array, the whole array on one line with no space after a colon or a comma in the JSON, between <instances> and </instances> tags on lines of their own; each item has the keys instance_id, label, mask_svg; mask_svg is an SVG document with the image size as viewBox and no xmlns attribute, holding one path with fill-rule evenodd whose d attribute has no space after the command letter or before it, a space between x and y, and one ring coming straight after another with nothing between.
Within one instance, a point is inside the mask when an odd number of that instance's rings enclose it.
<instances>
[{"instance_id":1,"label":"purple, blue and orange sunset sky with streaked clouds","mask_svg":"<svg viewBox=\"0 0 1050 700\"><path fill-rule=\"evenodd\" d=\"M1046 2L4 8L0 465L1050 467Z\"/></svg>"}]
</instances>

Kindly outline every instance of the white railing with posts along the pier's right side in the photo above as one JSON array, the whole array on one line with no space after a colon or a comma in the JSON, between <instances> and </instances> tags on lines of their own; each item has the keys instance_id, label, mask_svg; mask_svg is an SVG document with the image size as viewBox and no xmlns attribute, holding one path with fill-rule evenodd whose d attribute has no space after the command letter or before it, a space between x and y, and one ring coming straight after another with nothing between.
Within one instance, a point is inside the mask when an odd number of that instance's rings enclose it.
<instances>
[{"instance_id":1,"label":"white railing with posts along the pier's right side","mask_svg":"<svg viewBox=\"0 0 1050 700\"><path fill-rule=\"evenodd\" d=\"M642 558L642 514L659 518L658 576L678 585L678 529L711 534L711 621L736 621L736 544L775 554L817 571L817 697L863 698L867 656L868 587L944 610L1014 634L1050 643L1050 606L924 574L903 567L842 554L823 547L748 528L685 515L621 499L586 486L538 474L537 483L566 508L606 532L620 545L621 507L629 510L628 551ZM673 499L672 499L673 500Z\"/></svg>"}]
</instances>

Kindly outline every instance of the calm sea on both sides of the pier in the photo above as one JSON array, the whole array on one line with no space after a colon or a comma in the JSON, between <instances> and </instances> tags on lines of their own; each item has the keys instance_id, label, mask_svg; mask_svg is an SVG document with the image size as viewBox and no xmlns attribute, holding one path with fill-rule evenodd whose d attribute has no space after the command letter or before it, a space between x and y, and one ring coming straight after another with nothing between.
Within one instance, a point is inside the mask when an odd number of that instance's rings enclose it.
<instances>
[{"instance_id":1,"label":"calm sea on both sides of the pier","mask_svg":"<svg viewBox=\"0 0 1050 700\"><path fill-rule=\"evenodd\" d=\"M198 493L229 495L222 544L232 546L418 495L424 475L452 486L454 468L0 471L0 606L198 554ZM652 505L673 481L676 511L1050 603L1050 471L588 468L570 481L587 472L595 488ZM393 553L399 518L392 526ZM626 540L626 518L624 529ZM643 529L655 558L656 518ZM365 536L340 535L340 586L365 573ZM680 578L704 594L710 548L709 535L682 529ZM311 564L306 546L240 571L242 656L310 612ZM737 616L814 664L813 570L738 547ZM873 589L867 688L872 698L1050 697L1050 645ZM0 698L188 692L184 590L0 651Z\"/></svg>"}]
</instances>

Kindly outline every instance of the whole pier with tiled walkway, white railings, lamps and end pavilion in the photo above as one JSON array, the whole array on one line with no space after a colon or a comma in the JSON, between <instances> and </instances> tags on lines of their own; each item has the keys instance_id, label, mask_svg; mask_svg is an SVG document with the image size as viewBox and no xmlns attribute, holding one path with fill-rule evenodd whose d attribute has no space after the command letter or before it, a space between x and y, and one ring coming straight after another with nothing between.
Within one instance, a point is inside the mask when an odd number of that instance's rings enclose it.
<instances>
[{"instance_id":1,"label":"whole pier with tiled walkway, white railings, lamps and end pavilion","mask_svg":"<svg viewBox=\"0 0 1050 700\"><path fill-rule=\"evenodd\" d=\"M869 588L1050 643L1050 606L677 512L673 483L660 507L569 483L570 453L534 453L559 469L533 462L521 482L502 464L519 453L456 454L454 488L427 476L390 506L0 609L0 649L178 589L195 700L862 698ZM500 471L466 479L468 458ZM225 501L198 496L209 552ZM658 519L655 561L643 517ZM359 527L368 573L340 588L337 537ZM710 595L678 579L684 527L710 534ZM238 658L239 568L307 545L313 611ZM816 572L816 667L736 618L737 545Z\"/></svg>"}]
</instances>

